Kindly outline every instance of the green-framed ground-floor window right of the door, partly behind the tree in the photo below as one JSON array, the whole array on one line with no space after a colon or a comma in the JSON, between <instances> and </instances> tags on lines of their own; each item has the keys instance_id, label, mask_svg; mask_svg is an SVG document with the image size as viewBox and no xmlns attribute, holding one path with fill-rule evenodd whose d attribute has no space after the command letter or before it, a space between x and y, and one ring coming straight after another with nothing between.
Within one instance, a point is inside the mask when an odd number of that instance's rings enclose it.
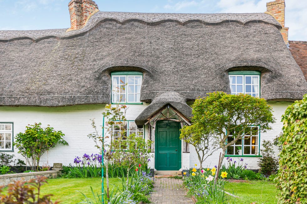
<instances>
[{"instance_id":1,"label":"green-framed ground-floor window right of the door, partly behind the tree","mask_svg":"<svg viewBox=\"0 0 307 204\"><path fill-rule=\"evenodd\" d=\"M227 138L227 143L233 141L233 132ZM234 145L227 147L226 156L259 155L260 131L259 127L251 126L243 133L244 137Z\"/></svg>"}]
</instances>

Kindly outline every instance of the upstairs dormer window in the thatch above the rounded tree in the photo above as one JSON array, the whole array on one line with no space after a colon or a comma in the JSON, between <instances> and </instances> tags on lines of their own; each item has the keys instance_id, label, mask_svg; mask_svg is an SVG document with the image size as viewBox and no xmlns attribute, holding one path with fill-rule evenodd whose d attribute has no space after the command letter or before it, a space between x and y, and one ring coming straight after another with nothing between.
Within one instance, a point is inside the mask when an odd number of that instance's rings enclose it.
<instances>
[{"instance_id":1,"label":"upstairs dormer window in the thatch above the rounded tree","mask_svg":"<svg viewBox=\"0 0 307 204\"><path fill-rule=\"evenodd\" d=\"M258 71L230 71L229 82L232 95L239 93L260 97L260 74Z\"/></svg>"}]
</instances>

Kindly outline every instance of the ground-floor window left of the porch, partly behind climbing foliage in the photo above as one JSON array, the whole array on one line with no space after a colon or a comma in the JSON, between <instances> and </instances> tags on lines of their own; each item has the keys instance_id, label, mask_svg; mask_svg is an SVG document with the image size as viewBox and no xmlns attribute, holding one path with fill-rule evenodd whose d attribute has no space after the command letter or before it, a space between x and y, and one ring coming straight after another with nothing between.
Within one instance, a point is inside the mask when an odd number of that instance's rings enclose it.
<instances>
[{"instance_id":1,"label":"ground-floor window left of the porch, partly behind climbing foliage","mask_svg":"<svg viewBox=\"0 0 307 204\"><path fill-rule=\"evenodd\" d=\"M119 149L129 149L131 145L136 148L136 142L129 140L129 136L144 138L144 127L138 128L134 121L123 121L113 125L113 140L118 142Z\"/></svg>"}]
</instances>

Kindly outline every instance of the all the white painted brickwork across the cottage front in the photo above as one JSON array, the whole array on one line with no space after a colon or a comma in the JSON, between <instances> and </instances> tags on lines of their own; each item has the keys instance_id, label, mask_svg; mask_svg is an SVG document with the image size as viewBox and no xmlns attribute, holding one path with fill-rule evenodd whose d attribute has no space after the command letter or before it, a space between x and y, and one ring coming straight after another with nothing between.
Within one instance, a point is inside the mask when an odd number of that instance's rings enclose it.
<instances>
[{"instance_id":1,"label":"all the white painted brickwork across the cottage front","mask_svg":"<svg viewBox=\"0 0 307 204\"><path fill-rule=\"evenodd\" d=\"M290 102L268 102L273 107L276 123L272 124L273 130L267 133L261 133L262 140L273 140L282 129L281 115L285 109L291 104ZM143 105L127 105L127 120L134 120L147 106ZM94 147L92 139L87 135L93 132L91 126L91 119L95 118L97 127L102 125L102 112L104 111L104 104L96 105L75 105L66 107L0 107L0 122L13 122L14 135L19 132L24 132L25 126L34 124L34 122L41 122L42 127L48 124L54 127L55 130L61 130L65 134L65 140L69 146L58 145L45 153L40 161L40 165L48 164L52 166L53 163L63 163L68 165L73 163L75 156L82 156L84 153L98 153L98 149ZM99 128L100 132L101 129ZM148 138L148 130L145 128L145 139ZM262 146L260 146L262 148ZM17 155L16 158L23 159L18 155L17 149L14 152L6 152ZM260 153L261 154L261 153ZM219 151L214 155L208 157L203 163L203 167L214 167L218 163ZM237 157L232 157L237 159ZM255 157L243 157L244 162L248 164L248 168L258 169L257 160ZM24 159L23 159L24 160ZM237 159L238 160L238 159ZM190 154L182 153L182 169L193 167L194 164L199 164L195 148L190 145ZM226 159L224 160L226 162ZM149 166L153 168L154 158L151 158Z\"/></svg>"}]
</instances>

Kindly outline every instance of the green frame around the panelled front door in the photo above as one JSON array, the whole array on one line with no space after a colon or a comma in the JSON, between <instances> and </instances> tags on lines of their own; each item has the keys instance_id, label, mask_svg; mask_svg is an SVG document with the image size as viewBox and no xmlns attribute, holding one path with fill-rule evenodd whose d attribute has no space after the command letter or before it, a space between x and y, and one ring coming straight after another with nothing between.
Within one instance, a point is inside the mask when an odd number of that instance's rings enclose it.
<instances>
[{"instance_id":1,"label":"green frame around the panelled front door","mask_svg":"<svg viewBox=\"0 0 307 204\"><path fill-rule=\"evenodd\" d=\"M157 121L157 123L159 123L159 122L162 122L162 121L169 121L169 122L176 122L176 121L170 121L170 120L159 120L159 121ZM180 125L180 122L176 122L177 123L177 128L178 128L178 151L179 151L179 155L178 155L178 163L177 163L177 167L178 167L178 169L177 170L172 170L172 171L178 171L178 170L180 170L181 168L182 168L182 152L181 152L181 149L182 149L182 140L179 138L179 136L180 136L180 129L181 129L181 125ZM158 139L158 132L159 132L159 126L158 126L159 124L156 124L156 128L155 128L155 153L154 153L154 160L155 160L155 165L154 165L154 168L157 170L157 168L156 168L156 165L158 164L158 162L157 162L157 159L158 159L158 156L157 156L157 154L158 154L158 142L157 142L157 139ZM159 140L159 139L158 139ZM159 171L164 171L164 170L159 170Z\"/></svg>"}]
</instances>

